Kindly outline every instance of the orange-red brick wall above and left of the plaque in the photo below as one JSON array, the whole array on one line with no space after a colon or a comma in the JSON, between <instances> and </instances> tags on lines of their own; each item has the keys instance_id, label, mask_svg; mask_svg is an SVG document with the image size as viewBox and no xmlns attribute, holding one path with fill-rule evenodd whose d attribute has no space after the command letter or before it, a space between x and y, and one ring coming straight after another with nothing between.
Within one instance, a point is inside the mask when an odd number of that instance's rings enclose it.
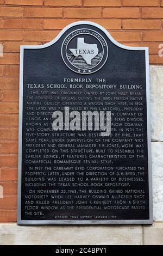
<instances>
[{"instance_id":1,"label":"orange-red brick wall above and left of the plaque","mask_svg":"<svg viewBox=\"0 0 163 256\"><path fill-rule=\"evenodd\" d=\"M149 46L151 64L163 64L163 0L0 0L0 16L0 222L15 222L20 45L43 44L69 23L90 20L122 44Z\"/></svg>"}]
</instances>

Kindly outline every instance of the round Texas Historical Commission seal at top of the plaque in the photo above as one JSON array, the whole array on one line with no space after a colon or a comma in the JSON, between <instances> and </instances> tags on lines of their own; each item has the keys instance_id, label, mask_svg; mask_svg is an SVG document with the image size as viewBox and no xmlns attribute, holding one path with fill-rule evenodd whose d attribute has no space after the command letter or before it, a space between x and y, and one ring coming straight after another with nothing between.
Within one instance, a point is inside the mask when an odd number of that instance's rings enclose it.
<instances>
[{"instance_id":1,"label":"round Texas Historical Commission seal at top of the plaque","mask_svg":"<svg viewBox=\"0 0 163 256\"><path fill-rule=\"evenodd\" d=\"M101 34L91 29L77 29L68 34L61 47L64 63L78 74L92 74L105 64L108 45Z\"/></svg>"}]
</instances>

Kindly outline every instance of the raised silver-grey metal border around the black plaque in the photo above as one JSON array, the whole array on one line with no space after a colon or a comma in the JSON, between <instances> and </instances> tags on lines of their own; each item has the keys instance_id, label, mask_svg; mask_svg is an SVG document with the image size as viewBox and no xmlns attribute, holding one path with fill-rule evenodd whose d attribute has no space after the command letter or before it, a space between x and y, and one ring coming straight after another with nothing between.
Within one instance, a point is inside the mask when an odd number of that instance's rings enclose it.
<instances>
[{"instance_id":1,"label":"raised silver-grey metal border around the black plaque","mask_svg":"<svg viewBox=\"0 0 163 256\"><path fill-rule=\"evenodd\" d=\"M101 29L116 46L130 51L145 51L146 56L146 102L147 102L147 141L148 141L148 186L149 186L149 220L21 220L21 182L22 182L22 120L23 120L23 63L24 49L41 49L57 42L67 29L78 25L92 25ZM18 183L17 183L17 224L152 224L153 223L153 193L152 193L152 156L151 156L151 121L149 94L149 50L148 47L130 47L117 42L106 29L95 22L78 21L66 26L52 41L44 45L21 45L20 47L20 93L19 93L19 124L18 124Z\"/></svg>"}]
</instances>

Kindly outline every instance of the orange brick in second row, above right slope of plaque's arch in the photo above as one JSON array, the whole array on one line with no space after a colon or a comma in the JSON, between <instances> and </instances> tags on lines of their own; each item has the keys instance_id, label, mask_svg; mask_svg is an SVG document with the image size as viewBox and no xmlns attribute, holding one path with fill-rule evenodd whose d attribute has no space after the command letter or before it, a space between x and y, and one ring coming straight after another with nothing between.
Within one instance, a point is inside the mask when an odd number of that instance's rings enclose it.
<instances>
[{"instance_id":1,"label":"orange brick in second row, above right slope of plaque's arch","mask_svg":"<svg viewBox=\"0 0 163 256\"><path fill-rule=\"evenodd\" d=\"M139 18L139 8L104 8L103 17L105 18Z\"/></svg>"}]
</instances>

